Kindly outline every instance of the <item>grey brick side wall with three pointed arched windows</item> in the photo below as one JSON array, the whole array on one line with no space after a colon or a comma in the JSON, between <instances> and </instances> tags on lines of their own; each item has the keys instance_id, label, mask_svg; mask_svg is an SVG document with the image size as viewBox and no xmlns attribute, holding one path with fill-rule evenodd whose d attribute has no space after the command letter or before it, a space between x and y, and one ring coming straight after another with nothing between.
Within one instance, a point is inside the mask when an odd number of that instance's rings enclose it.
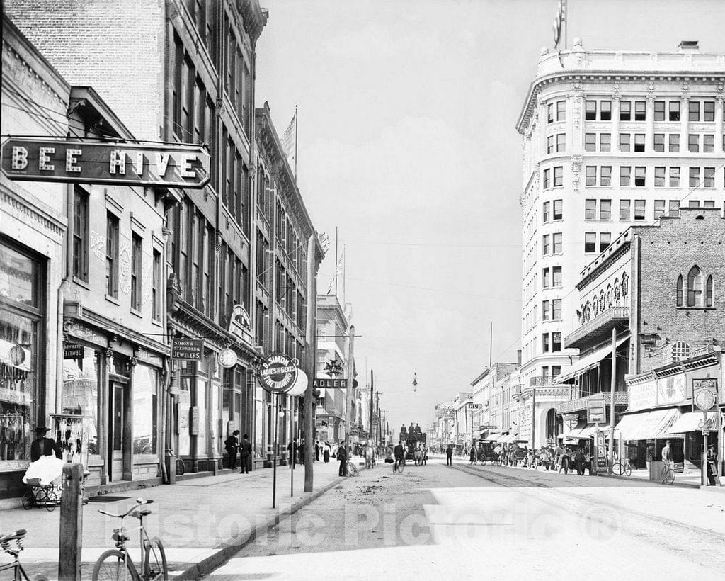
<instances>
[{"instance_id":1,"label":"grey brick side wall with three pointed arched windows","mask_svg":"<svg viewBox=\"0 0 725 581\"><path fill-rule=\"evenodd\" d=\"M656 345L678 340L693 347L725 339L725 220L720 210L684 208L681 218L663 218L659 227L637 228L641 234L641 296L639 333L655 334ZM677 277L684 278L687 305L687 273L693 265L705 280L713 276L713 308L676 306ZM645 325L646 322L646 325ZM659 328L659 329L658 329ZM639 338L642 345L641 338ZM667 350L667 347L664 347ZM660 348L647 352L642 345L639 372L665 364Z\"/></svg>"}]
</instances>

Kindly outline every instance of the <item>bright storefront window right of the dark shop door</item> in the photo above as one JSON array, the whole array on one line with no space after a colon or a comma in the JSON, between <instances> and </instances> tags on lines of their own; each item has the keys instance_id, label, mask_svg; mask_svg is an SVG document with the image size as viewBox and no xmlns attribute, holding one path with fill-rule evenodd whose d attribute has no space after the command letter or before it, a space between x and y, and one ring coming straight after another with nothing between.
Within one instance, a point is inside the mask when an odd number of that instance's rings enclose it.
<instances>
[{"instance_id":1,"label":"bright storefront window right of the dark shop door","mask_svg":"<svg viewBox=\"0 0 725 581\"><path fill-rule=\"evenodd\" d=\"M133 453L157 453L158 371L137 363L133 368Z\"/></svg>"}]
</instances>

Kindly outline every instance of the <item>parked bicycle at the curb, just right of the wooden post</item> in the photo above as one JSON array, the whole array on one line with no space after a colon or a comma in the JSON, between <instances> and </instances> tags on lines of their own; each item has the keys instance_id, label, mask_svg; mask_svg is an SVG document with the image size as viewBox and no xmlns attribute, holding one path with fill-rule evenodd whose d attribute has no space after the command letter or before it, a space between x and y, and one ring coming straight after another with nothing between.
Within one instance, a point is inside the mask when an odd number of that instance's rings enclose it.
<instances>
[{"instance_id":1,"label":"parked bicycle at the curb, just right of the wooden post","mask_svg":"<svg viewBox=\"0 0 725 581\"><path fill-rule=\"evenodd\" d=\"M116 543L115 549L109 549L103 553L93 569L93 581L106 580L129 580L129 581L168 581L168 569L166 566L166 553L164 545L158 537L149 537L144 526L144 519L151 514L147 508L138 510L140 506L152 503L153 500L136 498L136 506L131 506L123 514L111 514L99 510L99 513L121 519L121 526L113 530L112 539ZM141 531L141 560L144 568L138 572L136 565L128 554L126 541L129 540L127 531L123 528L123 519L126 516L133 516L141 523L138 529Z\"/></svg>"}]
</instances>

